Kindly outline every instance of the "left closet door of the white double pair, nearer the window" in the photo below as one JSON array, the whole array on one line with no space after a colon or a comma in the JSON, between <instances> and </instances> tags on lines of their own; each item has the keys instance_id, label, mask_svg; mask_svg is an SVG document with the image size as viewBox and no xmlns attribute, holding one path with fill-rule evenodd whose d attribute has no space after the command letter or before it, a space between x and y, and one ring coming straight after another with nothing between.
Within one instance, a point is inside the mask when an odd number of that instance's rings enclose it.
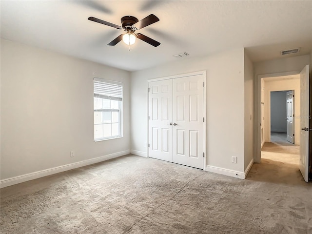
<instances>
[{"instance_id":1,"label":"left closet door of the white double pair, nearer the window","mask_svg":"<svg viewBox=\"0 0 312 234\"><path fill-rule=\"evenodd\" d=\"M169 162L173 161L172 103L172 79L149 83L149 156Z\"/></svg>"}]
</instances>

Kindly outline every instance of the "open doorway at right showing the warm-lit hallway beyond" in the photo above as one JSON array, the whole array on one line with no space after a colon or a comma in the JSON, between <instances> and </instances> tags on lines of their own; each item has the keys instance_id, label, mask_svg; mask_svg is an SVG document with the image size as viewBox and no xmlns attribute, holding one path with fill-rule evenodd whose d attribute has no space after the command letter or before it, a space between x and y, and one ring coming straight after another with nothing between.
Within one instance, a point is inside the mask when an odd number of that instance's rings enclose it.
<instances>
[{"instance_id":1,"label":"open doorway at right showing the warm-lit hallway beyond","mask_svg":"<svg viewBox=\"0 0 312 234\"><path fill-rule=\"evenodd\" d=\"M300 76L262 78L261 92L261 160L299 168Z\"/></svg>"}]
</instances>

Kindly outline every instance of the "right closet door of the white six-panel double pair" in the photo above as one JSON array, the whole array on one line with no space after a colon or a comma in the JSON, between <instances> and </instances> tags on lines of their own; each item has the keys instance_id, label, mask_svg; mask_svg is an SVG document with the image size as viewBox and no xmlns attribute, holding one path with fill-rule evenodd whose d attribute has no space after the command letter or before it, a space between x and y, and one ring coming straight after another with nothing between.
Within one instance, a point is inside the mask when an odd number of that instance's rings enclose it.
<instances>
[{"instance_id":1,"label":"right closet door of the white six-panel double pair","mask_svg":"<svg viewBox=\"0 0 312 234\"><path fill-rule=\"evenodd\" d=\"M173 162L203 169L203 75L173 80Z\"/></svg>"}]
</instances>

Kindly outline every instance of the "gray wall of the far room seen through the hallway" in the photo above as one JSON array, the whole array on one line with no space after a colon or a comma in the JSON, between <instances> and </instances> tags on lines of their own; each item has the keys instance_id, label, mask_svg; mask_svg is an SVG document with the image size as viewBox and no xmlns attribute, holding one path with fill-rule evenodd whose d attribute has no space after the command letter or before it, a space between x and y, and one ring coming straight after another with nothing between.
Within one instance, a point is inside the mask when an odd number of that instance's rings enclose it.
<instances>
[{"instance_id":1,"label":"gray wall of the far room seen through the hallway","mask_svg":"<svg viewBox=\"0 0 312 234\"><path fill-rule=\"evenodd\" d=\"M271 132L286 133L286 93L271 92Z\"/></svg>"}]
</instances>

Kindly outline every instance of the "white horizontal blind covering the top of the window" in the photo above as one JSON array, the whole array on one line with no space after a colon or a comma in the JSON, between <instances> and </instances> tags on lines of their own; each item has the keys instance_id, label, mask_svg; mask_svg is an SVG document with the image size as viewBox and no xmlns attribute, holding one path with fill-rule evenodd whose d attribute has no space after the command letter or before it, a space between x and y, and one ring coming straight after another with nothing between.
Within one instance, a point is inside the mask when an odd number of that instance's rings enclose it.
<instances>
[{"instance_id":1,"label":"white horizontal blind covering the top of the window","mask_svg":"<svg viewBox=\"0 0 312 234\"><path fill-rule=\"evenodd\" d=\"M94 78L94 97L122 101L122 85Z\"/></svg>"}]
</instances>

